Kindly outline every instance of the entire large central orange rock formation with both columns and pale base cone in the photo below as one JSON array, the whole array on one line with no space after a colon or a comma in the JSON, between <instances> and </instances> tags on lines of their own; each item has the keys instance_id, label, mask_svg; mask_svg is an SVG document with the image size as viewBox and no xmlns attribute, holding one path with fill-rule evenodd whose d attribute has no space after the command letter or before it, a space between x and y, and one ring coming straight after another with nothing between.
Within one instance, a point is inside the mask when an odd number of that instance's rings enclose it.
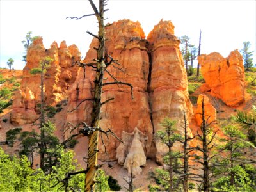
<instances>
[{"instance_id":1,"label":"entire large central orange rock formation with both columns and pale base cone","mask_svg":"<svg viewBox=\"0 0 256 192\"><path fill-rule=\"evenodd\" d=\"M133 98L129 86L104 86L102 102L114 99L102 106L100 127L111 129L128 144L124 146L111 136L109 140L103 137L104 143L110 159L119 159L120 164L124 164L128 170L131 170L131 162L136 161L136 172L140 173L140 166L147 157L156 157L157 161L163 163L161 159L166 147L154 140L154 133L163 129L159 123L166 116L182 123L184 112L188 119L192 115L186 71L179 50L180 41L174 36L172 22L163 20L154 27L147 40L139 22L118 20L106 27L106 39L106 53L118 60L120 65L113 63L115 67L108 67L109 73L104 74L104 83L116 80L131 83ZM97 47L98 40L93 38L84 63L95 62ZM83 121L90 125L93 79L95 72L92 68L79 69L69 91L67 110L71 111L78 105L79 108L67 113L67 122L76 124ZM184 132L181 124L178 129L180 133ZM69 132L65 132L65 138L69 135ZM132 143L138 143L138 148ZM180 146L175 147L180 149ZM131 148L140 152L133 160ZM100 144L99 150L100 157L106 159L104 145Z\"/></svg>"}]
</instances>

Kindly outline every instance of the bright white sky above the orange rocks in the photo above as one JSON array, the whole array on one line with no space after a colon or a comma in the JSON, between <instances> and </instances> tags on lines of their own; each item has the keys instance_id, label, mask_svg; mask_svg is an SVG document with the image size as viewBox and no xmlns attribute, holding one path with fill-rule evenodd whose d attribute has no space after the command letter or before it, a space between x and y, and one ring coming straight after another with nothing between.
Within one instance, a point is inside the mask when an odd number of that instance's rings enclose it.
<instances>
[{"instance_id":1,"label":"bright white sky above the orange rocks","mask_svg":"<svg viewBox=\"0 0 256 192\"><path fill-rule=\"evenodd\" d=\"M106 8L109 8L106 22L138 20L145 35L162 18L171 20L175 35L188 35L196 46L201 28L201 53L220 52L226 57L234 49L241 49L244 41L250 41L250 51L256 51L255 0L109 0ZM54 41L60 45L66 40L67 45L76 44L85 56L92 40L86 31L97 33L95 17L65 18L89 13L93 10L87 0L0 0L0 67L7 67L6 62L12 57L14 68L24 68L21 41L28 31L32 31L33 36L43 36L45 48ZM255 52L253 56L253 63L256 63Z\"/></svg>"}]
</instances>

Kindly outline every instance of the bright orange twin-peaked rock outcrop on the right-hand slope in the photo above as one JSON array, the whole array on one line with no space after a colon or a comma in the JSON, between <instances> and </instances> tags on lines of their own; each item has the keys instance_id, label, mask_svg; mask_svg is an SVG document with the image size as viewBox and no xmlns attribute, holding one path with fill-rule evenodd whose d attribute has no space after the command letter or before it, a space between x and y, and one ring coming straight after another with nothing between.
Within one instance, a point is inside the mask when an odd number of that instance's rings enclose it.
<instances>
[{"instance_id":1,"label":"bright orange twin-peaked rock outcrop on the right-hand slope","mask_svg":"<svg viewBox=\"0 0 256 192\"><path fill-rule=\"evenodd\" d=\"M228 106L237 106L244 102L245 80L243 57L235 50L227 58L218 52L198 56L201 72L205 79L205 88Z\"/></svg>"}]
</instances>

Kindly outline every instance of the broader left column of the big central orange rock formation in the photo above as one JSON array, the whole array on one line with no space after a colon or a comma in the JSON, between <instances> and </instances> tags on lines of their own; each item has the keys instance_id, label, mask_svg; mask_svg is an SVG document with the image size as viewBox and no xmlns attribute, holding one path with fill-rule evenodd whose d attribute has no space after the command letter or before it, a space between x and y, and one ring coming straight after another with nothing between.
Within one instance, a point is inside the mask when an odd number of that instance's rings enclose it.
<instances>
[{"instance_id":1,"label":"broader left column of the big central orange rock formation","mask_svg":"<svg viewBox=\"0 0 256 192\"><path fill-rule=\"evenodd\" d=\"M122 84L104 86L102 102L111 98L114 99L102 106L100 127L105 130L111 129L119 138L121 138L123 131L131 133L137 127L139 131L148 136L147 143L145 143L147 148L145 156L148 156L152 144L153 129L147 93L149 59L147 40L144 38L145 34L139 22L119 20L106 28L106 39L108 39L106 52L118 60L121 65L113 63L112 66L108 67L109 73L104 74L104 83L122 81L131 83L133 89L131 94L129 86ZM97 58L97 51L94 49L97 46L98 41L93 38L84 63L92 63L93 59ZM83 69L79 70L77 80L69 92L68 110L76 108L84 99L92 98L95 72L91 69L86 68L85 74ZM67 122L85 121L90 124L91 111L92 101L86 100L76 111L68 113ZM68 137L68 133L65 137ZM109 158L115 159L116 148L120 142L115 138L110 140L104 138L104 142L108 149ZM102 147L103 145L100 145L100 150L104 151Z\"/></svg>"}]
</instances>

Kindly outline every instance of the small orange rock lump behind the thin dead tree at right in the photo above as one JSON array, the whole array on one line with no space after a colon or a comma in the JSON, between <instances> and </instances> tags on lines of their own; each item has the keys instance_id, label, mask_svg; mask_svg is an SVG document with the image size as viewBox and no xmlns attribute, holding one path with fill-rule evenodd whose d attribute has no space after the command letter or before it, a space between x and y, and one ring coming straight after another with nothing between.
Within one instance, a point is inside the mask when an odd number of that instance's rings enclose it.
<instances>
[{"instance_id":1,"label":"small orange rock lump behind the thin dead tree at right","mask_svg":"<svg viewBox=\"0 0 256 192\"><path fill-rule=\"evenodd\" d=\"M210 124L211 122L216 121L217 119L217 113L216 113L216 109L214 108L214 106L212 106L209 97L207 97L206 95L199 95L198 99L197 99L197 108L195 111L195 120L196 120L196 124L198 126L201 126L202 124L202 101L204 99L204 116L205 116L205 120L207 120L207 122Z\"/></svg>"}]
</instances>

